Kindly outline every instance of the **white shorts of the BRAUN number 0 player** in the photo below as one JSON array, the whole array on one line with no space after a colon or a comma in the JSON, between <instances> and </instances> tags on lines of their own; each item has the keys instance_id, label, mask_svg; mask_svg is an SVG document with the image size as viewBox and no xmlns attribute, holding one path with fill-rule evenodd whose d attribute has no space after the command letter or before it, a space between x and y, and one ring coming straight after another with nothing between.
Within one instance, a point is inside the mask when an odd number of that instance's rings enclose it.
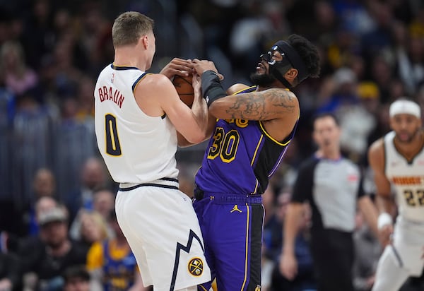
<instances>
[{"instance_id":1,"label":"white shorts of the BRAUN number 0 player","mask_svg":"<svg viewBox=\"0 0 424 291\"><path fill-rule=\"evenodd\" d=\"M179 290L211 280L192 200L163 186L121 184L124 187L134 189L118 191L117 220L136 256L144 285Z\"/></svg>"}]
</instances>

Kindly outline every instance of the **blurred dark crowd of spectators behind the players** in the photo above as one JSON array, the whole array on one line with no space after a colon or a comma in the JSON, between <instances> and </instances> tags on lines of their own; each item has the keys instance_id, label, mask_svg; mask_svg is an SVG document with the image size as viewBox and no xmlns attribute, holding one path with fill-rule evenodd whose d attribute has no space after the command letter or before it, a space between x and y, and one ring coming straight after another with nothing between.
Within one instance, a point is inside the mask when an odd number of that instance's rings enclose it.
<instances>
[{"instance_id":1,"label":"blurred dark crowd of spectators behind the players","mask_svg":"<svg viewBox=\"0 0 424 291\"><path fill-rule=\"evenodd\" d=\"M320 78L295 88L300 124L272 179L266 222L274 212L273 219L283 219L278 214L286 203L282 194L290 192L299 163L314 150L314 114L333 112L340 119L343 153L361 166L367 194L373 195L366 150L389 131L389 103L408 96L424 108L420 0L0 1L1 256L15 250L29 256L25 246L40 238L37 215L46 197L64 208L69 242L81 242L83 252L93 243L83 238L84 211L102 213L105 235L97 239L113 237L105 222L117 185L99 160L93 89L98 73L113 59L113 20L129 10L155 20L153 73L173 57L209 59L225 76L224 86L249 84L259 55L276 40L298 33L319 48ZM190 196L204 149L200 144L177 153L180 186ZM109 194L98 195L102 191ZM366 245L370 240L362 225L358 215L357 237ZM267 238L272 239L266 240L270 249L264 254L272 264L281 242L278 234ZM360 249L370 252L361 254L375 265L378 246Z\"/></svg>"}]
</instances>

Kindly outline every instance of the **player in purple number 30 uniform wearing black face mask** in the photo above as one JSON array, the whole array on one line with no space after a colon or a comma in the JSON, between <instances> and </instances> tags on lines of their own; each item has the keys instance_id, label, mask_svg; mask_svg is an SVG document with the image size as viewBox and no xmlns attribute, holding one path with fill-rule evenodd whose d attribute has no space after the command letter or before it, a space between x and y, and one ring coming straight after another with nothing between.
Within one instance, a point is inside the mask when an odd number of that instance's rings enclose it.
<instances>
[{"instance_id":1,"label":"player in purple number 30 uniform wearing black face mask","mask_svg":"<svg viewBox=\"0 0 424 291\"><path fill-rule=\"evenodd\" d=\"M276 42L260 59L252 75L257 86L238 86L239 94L229 96L212 62L193 61L209 114L218 119L196 174L193 206L219 291L261 289L261 194L300 115L289 89L319 74L317 48L300 35Z\"/></svg>"}]
</instances>

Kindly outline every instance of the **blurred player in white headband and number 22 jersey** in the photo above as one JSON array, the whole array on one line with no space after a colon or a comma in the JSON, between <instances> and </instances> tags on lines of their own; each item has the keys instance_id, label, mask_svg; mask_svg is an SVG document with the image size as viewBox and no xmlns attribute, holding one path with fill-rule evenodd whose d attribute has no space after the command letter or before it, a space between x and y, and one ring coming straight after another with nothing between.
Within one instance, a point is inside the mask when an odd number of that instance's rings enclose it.
<instances>
[{"instance_id":1,"label":"blurred player in white headband and number 22 jersey","mask_svg":"<svg viewBox=\"0 0 424 291\"><path fill-rule=\"evenodd\" d=\"M408 276L424 267L424 132L416 102L396 100L389 108L393 131L368 150L379 199L378 227L385 245L373 291L397 291ZM391 186L396 192L398 216ZM391 239L391 234L393 236Z\"/></svg>"}]
</instances>

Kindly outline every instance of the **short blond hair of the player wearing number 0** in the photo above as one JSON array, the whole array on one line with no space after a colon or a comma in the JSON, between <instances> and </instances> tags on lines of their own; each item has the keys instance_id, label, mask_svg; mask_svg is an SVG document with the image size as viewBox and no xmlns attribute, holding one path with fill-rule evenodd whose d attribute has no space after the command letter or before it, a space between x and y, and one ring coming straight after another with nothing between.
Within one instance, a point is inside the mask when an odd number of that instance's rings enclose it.
<instances>
[{"instance_id":1,"label":"short blond hair of the player wearing number 0","mask_svg":"<svg viewBox=\"0 0 424 291\"><path fill-rule=\"evenodd\" d=\"M112 26L113 47L136 44L140 37L153 31L153 19L139 12L128 11L120 14Z\"/></svg>"}]
</instances>

